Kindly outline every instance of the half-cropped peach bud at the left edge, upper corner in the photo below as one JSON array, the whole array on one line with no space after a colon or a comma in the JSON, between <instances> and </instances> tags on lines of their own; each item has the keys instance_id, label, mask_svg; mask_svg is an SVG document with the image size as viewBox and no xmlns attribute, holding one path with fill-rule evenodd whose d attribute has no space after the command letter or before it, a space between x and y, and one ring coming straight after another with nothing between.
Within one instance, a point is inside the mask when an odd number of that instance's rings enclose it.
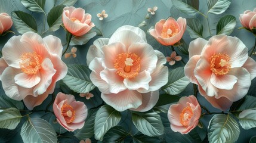
<instances>
[{"instance_id":1,"label":"half-cropped peach bud at the left edge, upper corner","mask_svg":"<svg viewBox=\"0 0 256 143\"><path fill-rule=\"evenodd\" d=\"M11 17L7 13L0 13L0 35L11 29L11 26L13 26Z\"/></svg>"}]
</instances>

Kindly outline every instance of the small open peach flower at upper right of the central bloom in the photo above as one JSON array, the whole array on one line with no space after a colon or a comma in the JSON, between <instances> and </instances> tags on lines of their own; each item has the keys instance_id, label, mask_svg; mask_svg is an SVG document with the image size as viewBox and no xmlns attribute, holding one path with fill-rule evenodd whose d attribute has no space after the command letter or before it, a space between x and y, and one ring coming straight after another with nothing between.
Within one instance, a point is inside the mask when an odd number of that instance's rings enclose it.
<instances>
[{"instance_id":1,"label":"small open peach flower at upper right of the central bloom","mask_svg":"<svg viewBox=\"0 0 256 143\"><path fill-rule=\"evenodd\" d=\"M174 45L182 38L187 27L185 18L179 17L177 21L169 17L167 20L160 20L156 23L155 29L149 30L159 43L165 46Z\"/></svg>"}]
</instances>

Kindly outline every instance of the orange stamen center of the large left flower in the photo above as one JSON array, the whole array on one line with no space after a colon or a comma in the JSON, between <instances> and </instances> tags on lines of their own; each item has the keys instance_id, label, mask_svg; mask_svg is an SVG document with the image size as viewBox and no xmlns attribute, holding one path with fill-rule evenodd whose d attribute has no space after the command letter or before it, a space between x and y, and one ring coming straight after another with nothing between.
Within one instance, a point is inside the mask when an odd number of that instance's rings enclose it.
<instances>
[{"instance_id":1,"label":"orange stamen center of the large left flower","mask_svg":"<svg viewBox=\"0 0 256 143\"><path fill-rule=\"evenodd\" d=\"M36 74L41 69L41 56L36 52L25 52L20 56L20 69L26 74Z\"/></svg>"}]
</instances>

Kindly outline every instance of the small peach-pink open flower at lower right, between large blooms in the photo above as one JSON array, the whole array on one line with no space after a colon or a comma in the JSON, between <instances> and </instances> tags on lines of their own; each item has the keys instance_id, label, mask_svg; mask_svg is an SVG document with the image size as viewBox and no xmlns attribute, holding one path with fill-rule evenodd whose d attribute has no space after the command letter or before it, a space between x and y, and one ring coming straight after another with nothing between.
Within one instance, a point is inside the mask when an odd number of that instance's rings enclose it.
<instances>
[{"instance_id":1,"label":"small peach-pink open flower at lower right, between large blooms","mask_svg":"<svg viewBox=\"0 0 256 143\"><path fill-rule=\"evenodd\" d=\"M169 107L167 116L174 132L187 134L198 125L201 107L194 95L181 97Z\"/></svg>"}]
</instances>

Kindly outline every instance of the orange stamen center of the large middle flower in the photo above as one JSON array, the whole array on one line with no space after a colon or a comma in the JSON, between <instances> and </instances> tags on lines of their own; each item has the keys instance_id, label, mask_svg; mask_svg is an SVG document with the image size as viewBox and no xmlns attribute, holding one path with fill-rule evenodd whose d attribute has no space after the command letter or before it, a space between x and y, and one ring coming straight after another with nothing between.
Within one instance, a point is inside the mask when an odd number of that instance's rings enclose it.
<instances>
[{"instance_id":1,"label":"orange stamen center of the large middle flower","mask_svg":"<svg viewBox=\"0 0 256 143\"><path fill-rule=\"evenodd\" d=\"M124 79L132 79L140 71L140 57L134 53L122 53L114 61L116 73Z\"/></svg>"}]
</instances>

